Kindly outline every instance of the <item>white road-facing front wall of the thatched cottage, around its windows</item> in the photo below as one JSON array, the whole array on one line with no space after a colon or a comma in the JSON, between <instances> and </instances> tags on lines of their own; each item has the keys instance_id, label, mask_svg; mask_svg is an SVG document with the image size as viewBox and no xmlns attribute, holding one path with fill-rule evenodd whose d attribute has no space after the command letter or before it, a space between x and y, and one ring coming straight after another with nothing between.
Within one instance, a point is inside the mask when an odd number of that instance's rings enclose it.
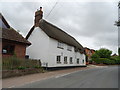
<instances>
[{"instance_id":1,"label":"white road-facing front wall of the thatched cottage, around its windows","mask_svg":"<svg viewBox=\"0 0 120 90\"><path fill-rule=\"evenodd\" d=\"M86 65L82 60L85 60L85 55L80 54L79 52L74 52L74 47L72 47L72 51L67 50L67 44L64 43L64 49L57 48L58 41L50 38L49 42L49 67L58 67L58 66L81 66ZM61 56L61 64L56 63L56 57ZM67 56L68 64L64 64L64 56ZM69 58L72 57L73 64L70 64ZM77 58L79 58L80 64L77 64Z\"/></svg>"}]
</instances>

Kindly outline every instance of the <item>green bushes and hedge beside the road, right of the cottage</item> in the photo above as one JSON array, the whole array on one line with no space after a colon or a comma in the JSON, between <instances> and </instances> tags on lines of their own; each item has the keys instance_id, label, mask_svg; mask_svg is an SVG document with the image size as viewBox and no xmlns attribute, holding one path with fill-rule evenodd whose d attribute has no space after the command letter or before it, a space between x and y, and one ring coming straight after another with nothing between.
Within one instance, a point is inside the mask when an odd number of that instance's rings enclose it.
<instances>
[{"instance_id":1,"label":"green bushes and hedge beside the road, right of the cottage","mask_svg":"<svg viewBox=\"0 0 120 90\"><path fill-rule=\"evenodd\" d=\"M96 64L106 64L106 65L114 65L114 64L120 64L120 57L119 56L111 56L112 51L101 48L100 50L97 50L92 55L92 62Z\"/></svg>"}]
</instances>

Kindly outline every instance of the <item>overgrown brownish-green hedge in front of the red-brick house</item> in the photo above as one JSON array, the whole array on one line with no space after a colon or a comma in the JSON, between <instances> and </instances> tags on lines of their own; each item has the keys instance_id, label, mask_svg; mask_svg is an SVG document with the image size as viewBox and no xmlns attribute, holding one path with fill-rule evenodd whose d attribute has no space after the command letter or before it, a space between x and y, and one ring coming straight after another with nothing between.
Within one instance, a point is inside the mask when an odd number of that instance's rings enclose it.
<instances>
[{"instance_id":1,"label":"overgrown brownish-green hedge in front of the red-brick house","mask_svg":"<svg viewBox=\"0 0 120 90\"><path fill-rule=\"evenodd\" d=\"M22 69L25 68L36 68L36 66L41 67L41 62L39 60L32 59L20 59L15 56L2 59L2 69Z\"/></svg>"}]
</instances>

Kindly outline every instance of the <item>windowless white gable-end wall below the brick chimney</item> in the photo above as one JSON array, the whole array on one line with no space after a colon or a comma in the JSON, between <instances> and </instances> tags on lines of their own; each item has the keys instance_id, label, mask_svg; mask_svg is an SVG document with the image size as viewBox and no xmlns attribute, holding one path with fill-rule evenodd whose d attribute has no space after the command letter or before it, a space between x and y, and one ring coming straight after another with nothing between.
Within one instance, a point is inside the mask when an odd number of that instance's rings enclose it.
<instances>
[{"instance_id":1,"label":"windowless white gable-end wall below the brick chimney","mask_svg":"<svg viewBox=\"0 0 120 90\"><path fill-rule=\"evenodd\" d=\"M49 37L43 30L36 27L28 38L28 41L30 41L32 45L26 49L26 55L29 55L31 59L40 59L42 63L47 62L47 60L49 60Z\"/></svg>"}]
</instances>

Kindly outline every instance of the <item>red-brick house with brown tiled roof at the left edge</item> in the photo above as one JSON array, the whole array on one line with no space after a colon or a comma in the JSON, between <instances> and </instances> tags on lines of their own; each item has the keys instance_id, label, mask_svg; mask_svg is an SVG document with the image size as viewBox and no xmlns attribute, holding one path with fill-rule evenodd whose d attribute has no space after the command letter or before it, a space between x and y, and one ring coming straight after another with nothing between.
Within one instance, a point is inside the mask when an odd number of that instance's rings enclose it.
<instances>
[{"instance_id":1,"label":"red-brick house with brown tiled roof at the left edge","mask_svg":"<svg viewBox=\"0 0 120 90\"><path fill-rule=\"evenodd\" d=\"M0 34L0 53L2 57L10 57L16 54L19 58L25 58L26 47L31 43L12 29L1 13Z\"/></svg>"}]
</instances>

